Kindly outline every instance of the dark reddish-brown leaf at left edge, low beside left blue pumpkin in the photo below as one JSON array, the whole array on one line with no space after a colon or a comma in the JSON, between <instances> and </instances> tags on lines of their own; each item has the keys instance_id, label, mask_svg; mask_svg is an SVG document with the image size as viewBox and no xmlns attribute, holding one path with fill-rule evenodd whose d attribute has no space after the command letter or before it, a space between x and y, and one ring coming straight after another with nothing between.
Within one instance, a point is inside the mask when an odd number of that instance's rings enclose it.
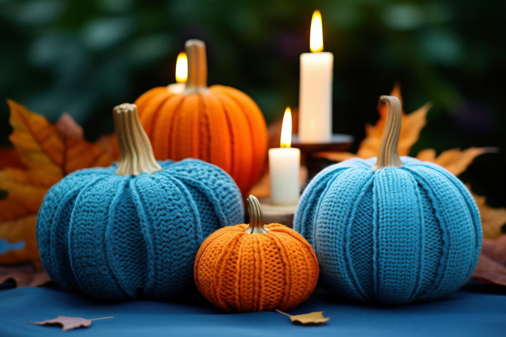
<instances>
[{"instance_id":1,"label":"dark reddish-brown leaf at left edge, low beside left blue pumpkin","mask_svg":"<svg viewBox=\"0 0 506 337\"><path fill-rule=\"evenodd\" d=\"M51 281L40 262L21 267L0 266L0 283L13 280L16 286L39 286Z\"/></svg>"}]
</instances>

